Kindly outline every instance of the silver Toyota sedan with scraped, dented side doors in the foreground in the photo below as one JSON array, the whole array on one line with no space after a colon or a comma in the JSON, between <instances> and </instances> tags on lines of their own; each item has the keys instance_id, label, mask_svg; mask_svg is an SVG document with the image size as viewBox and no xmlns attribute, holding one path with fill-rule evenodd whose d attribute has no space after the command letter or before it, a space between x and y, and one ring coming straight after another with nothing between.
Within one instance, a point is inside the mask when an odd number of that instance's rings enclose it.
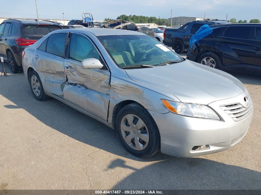
<instances>
[{"instance_id":1,"label":"silver Toyota sedan with scraped, dented side doors in the foreground","mask_svg":"<svg viewBox=\"0 0 261 195\"><path fill-rule=\"evenodd\" d=\"M251 123L251 97L238 79L139 32L56 30L22 57L37 100L53 97L116 129L135 156L224 151Z\"/></svg>"}]
</instances>

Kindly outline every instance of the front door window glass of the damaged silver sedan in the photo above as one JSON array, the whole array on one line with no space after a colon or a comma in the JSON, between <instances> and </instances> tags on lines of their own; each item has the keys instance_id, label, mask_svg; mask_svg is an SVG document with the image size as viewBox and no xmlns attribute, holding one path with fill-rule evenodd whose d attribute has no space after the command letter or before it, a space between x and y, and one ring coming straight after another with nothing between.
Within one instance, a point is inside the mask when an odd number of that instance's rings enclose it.
<instances>
[{"instance_id":1,"label":"front door window glass of the damaged silver sedan","mask_svg":"<svg viewBox=\"0 0 261 195\"><path fill-rule=\"evenodd\" d=\"M69 47L69 59L81 62L87 58L96 58L102 62L93 44L85 36L73 33Z\"/></svg>"}]
</instances>

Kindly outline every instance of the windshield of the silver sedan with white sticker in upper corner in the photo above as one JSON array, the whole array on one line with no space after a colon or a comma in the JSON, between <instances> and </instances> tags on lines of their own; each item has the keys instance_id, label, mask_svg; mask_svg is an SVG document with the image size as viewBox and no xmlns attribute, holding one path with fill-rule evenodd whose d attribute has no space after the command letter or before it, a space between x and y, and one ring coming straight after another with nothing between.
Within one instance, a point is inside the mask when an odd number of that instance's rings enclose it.
<instances>
[{"instance_id":1,"label":"windshield of the silver sedan with white sticker in upper corner","mask_svg":"<svg viewBox=\"0 0 261 195\"><path fill-rule=\"evenodd\" d=\"M183 61L170 48L147 35L103 35L97 38L120 68Z\"/></svg>"}]
</instances>

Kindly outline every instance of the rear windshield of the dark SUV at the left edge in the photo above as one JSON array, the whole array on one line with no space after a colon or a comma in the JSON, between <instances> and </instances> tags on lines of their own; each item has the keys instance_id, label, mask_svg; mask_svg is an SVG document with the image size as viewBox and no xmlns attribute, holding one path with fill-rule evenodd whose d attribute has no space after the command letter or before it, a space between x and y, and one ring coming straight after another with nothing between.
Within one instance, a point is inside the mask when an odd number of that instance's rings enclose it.
<instances>
[{"instance_id":1,"label":"rear windshield of the dark SUV at the left edge","mask_svg":"<svg viewBox=\"0 0 261 195\"><path fill-rule=\"evenodd\" d=\"M47 35L50 32L53 32L54 30L59 30L58 26L24 26L22 29L22 33L24 35Z\"/></svg>"}]
</instances>

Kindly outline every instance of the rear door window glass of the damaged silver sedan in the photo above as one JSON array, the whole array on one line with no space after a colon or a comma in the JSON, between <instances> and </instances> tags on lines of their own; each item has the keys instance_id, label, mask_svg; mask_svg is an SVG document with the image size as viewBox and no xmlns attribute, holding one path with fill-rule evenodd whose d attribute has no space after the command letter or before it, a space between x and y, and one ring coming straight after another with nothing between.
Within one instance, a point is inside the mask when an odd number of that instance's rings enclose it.
<instances>
[{"instance_id":1,"label":"rear door window glass of the damaged silver sedan","mask_svg":"<svg viewBox=\"0 0 261 195\"><path fill-rule=\"evenodd\" d=\"M46 52L65 57L65 44L67 39L67 33L55 33L48 37Z\"/></svg>"}]
</instances>

